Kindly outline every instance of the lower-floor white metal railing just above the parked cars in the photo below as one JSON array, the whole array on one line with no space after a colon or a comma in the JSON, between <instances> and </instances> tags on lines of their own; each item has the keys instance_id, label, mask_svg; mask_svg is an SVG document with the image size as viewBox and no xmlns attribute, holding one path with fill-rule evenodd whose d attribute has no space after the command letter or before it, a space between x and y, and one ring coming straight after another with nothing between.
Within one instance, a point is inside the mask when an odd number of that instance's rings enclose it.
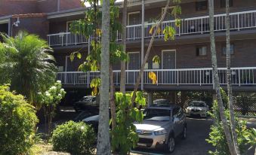
<instances>
[{"instance_id":1,"label":"lower-floor white metal railing just above the parked cars","mask_svg":"<svg viewBox=\"0 0 256 155\"><path fill-rule=\"evenodd\" d=\"M143 84L152 84L149 78L150 71L157 76L156 85L213 85L212 68L180 68L180 69L147 69L143 72ZM236 86L256 85L256 67L231 68L231 81ZM120 84L120 71L113 71L114 84ZM126 71L126 84L134 85L139 74L139 70ZM227 68L218 68L220 84L227 84ZM94 78L100 78L99 71L81 72L67 71L59 72L57 80L63 84L89 84Z\"/></svg>"}]
</instances>

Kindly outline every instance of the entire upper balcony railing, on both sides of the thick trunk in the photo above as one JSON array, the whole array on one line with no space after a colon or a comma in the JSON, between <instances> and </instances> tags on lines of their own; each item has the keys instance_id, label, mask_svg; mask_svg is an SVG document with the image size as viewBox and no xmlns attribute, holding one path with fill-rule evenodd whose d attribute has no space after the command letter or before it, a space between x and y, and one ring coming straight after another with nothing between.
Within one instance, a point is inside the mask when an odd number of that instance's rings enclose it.
<instances>
[{"instance_id":1,"label":"entire upper balcony railing, on both sides of the thick trunk","mask_svg":"<svg viewBox=\"0 0 256 155\"><path fill-rule=\"evenodd\" d=\"M225 18L226 14L214 15L215 32L223 32L226 30ZM150 38L152 36L150 35L150 29L155 25L156 23L144 24L144 38ZM182 19L180 27L175 26L174 20L168 20L162 23L161 29L165 29L165 26L173 26L176 29L177 36L205 34L209 32L209 17L203 16ZM135 41L141 38L141 24L127 26L126 29L128 41ZM230 30L239 31L243 29L256 29L256 10L230 14ZM116 35L118 38L117 41L121 41L121 34L117 32ZM163 37L164 35L162 31L156 35L156 38ZM88 44L88 39L82 35L74 35L70 32L61 32L48 35L48 44L51 47Z\"/></svg>"}]
</instances>

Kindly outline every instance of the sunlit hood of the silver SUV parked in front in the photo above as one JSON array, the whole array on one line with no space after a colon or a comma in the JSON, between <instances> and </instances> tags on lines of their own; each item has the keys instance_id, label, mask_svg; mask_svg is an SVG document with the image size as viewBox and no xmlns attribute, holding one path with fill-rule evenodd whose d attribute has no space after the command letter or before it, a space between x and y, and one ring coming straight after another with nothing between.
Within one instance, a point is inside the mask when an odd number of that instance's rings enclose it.
<instances>
[{"instance_id":1,"label":"sunlit hood of the silver SUV parked in front","mask_svg":"<svg viewBox=\"0 0 256 155\"><path fill-rule=\"evenodd\" d=\"M143 120L142 123L134 122L134 126L139 130L155 131L158 129L164 129L169 121L155 121L155 120Z\"/></svg>"}]
</instances>

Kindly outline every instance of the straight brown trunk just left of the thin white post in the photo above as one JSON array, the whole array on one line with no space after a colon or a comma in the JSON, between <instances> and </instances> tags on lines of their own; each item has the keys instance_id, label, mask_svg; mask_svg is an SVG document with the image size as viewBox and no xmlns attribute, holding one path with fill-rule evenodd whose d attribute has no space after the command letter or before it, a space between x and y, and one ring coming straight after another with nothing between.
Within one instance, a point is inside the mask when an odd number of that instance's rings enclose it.
<instances>
[{"instance_id":1,"label":"straight brown trunk just left of the thin white post","mask_svg":"<svg viewBox=\"0 0 256 155\"><path fill-rule=\"evenodd\" d=\"M126 52L126 25L127 25L127 0L123 2L122 8L122 47ZM121 78L120 78L120 91L125 93L125 61L121 61Z\"/></svg>"}]
</instances>

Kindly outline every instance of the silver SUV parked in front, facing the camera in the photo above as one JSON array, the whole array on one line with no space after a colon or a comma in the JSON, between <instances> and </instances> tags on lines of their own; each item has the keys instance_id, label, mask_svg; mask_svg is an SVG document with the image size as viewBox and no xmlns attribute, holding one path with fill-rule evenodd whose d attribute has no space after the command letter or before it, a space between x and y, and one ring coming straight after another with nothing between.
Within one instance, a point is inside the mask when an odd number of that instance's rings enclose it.
<instances>
[{"instance_id":1,"label":"silver SUV parked in front, facing the camera","mask_svg":"<svg viewBox=\"0 0 256 155\"><path fill-rule=\"evenodd\" d=\"M178 105L152 105L143 111L142 123L134 122L138 147L165 148L173 152L175 138L187 138L186 115Z\"/></svg>"}]
</instances>

